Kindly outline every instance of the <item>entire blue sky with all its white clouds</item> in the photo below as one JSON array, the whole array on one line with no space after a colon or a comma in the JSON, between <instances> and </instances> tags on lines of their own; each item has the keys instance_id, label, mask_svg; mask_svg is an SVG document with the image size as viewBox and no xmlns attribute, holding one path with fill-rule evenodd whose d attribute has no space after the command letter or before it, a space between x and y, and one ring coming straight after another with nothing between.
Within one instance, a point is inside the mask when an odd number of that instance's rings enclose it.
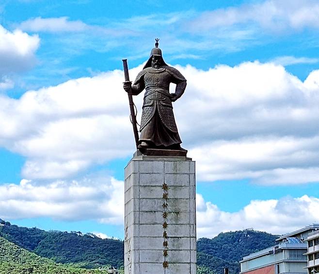
<instances>
[{"instance_id":1,"label":"entire blue sky with all its white clouds","mask_svg":"<svg viewBox=\"0 0 319 274\"><path fill-rule=\"evenodd\" d=\"M157 37L197 237L319 223L317 0L0 0L0 218L124 238L122 59L133 80Z\"/></svg>"}]
</instances>

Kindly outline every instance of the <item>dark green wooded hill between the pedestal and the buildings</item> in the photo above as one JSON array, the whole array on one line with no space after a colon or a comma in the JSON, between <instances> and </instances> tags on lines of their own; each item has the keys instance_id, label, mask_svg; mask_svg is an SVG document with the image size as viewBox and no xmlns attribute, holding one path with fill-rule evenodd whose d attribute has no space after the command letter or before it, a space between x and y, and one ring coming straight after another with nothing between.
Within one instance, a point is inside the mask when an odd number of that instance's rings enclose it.
<instances>
[{"instance_id":1,"label":"dark green wooded hill between the pedestal and the buildings","mask_svg":"<svg viewBox=\"0 0 319 274\"><path fill-rule=\"evenodd\" d=\"M214 274L223 274L228 267L230 274L239 273L239 260L256 251L274 245L275 235L246 229L221 233L213 239L197 241L197 264Z\"/></svg>"}]
</instances>

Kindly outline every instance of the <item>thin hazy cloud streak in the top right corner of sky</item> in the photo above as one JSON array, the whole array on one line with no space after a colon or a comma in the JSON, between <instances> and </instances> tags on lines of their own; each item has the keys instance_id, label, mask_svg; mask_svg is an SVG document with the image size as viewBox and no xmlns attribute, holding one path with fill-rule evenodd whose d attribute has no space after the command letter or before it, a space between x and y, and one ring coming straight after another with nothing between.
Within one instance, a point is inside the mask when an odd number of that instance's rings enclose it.
<instances>
[{"instance_id":1,"label":"thin hazy cloud streak in the top right corner of sky","mask_svg":"<svg viewBox=\"0 0 319 274\"><path fill-rule=\"evenodd\" d=\"M190 22L193 31L255 23L271 31L319 28L315 0L266 0L203 13Z\"/></svg>"}]
</instances>

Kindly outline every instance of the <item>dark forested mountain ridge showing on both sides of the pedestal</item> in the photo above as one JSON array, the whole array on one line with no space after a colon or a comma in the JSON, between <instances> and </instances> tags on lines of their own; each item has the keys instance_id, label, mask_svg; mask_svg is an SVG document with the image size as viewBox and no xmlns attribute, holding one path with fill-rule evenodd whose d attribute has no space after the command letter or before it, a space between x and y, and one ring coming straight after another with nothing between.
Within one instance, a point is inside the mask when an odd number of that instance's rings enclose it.
<instances>
[{"instance_id":1,"label":"dark forested mountain ridge showing on both sides of the pedestal","mask_svg":"<svg viewBox=\"0 0 319 274\"><path fill-rule=\"evenodd\" d=\"M19 227L4 221L0 223L0 237L55 263L75 264L87 269L105 265L120 269L124 265L121 240L102 240L80 231L67 233ZM237 274L242 257L274 245L276 238L266 232L247 229L221 233L213 239L199 239L198 274L223 274L225 267L229 268L230 274Z\"/></svg>"}]
</instances>

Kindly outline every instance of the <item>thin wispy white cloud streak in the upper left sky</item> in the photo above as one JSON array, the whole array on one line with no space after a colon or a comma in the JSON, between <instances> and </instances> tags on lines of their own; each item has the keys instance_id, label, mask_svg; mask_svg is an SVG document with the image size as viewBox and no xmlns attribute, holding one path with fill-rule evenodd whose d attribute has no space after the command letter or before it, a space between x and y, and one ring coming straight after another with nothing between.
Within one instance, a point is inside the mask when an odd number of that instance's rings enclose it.
<instances>
[{"instance_id":1,"label":"thin wispy white cloud streak in the upper left sky","mask_svg":"<svg viewBox=\"0 0 319 274\"><path fill-rule=\"evenodd\" d=\"M30 32L82 32L89 28L82 21L70 21L68 17L36 17L23 21L18 27Z\"/></svg>"}]
</instances>

